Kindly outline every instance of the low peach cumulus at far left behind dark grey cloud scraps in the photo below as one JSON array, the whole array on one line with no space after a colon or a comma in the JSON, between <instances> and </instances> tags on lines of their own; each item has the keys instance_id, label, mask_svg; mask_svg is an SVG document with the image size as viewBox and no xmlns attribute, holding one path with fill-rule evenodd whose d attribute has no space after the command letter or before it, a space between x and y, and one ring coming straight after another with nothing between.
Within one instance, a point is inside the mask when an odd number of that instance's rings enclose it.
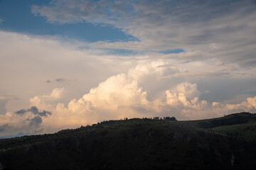
<instances>
[{"instance_id":1,"label":"low peach cumulus at far left behind dark grey cloud scraps","mask_svg":"<svg viewBox=\"0 0 256 170\"><path fill-rule=\"evenodd\" d=\"M7 111L5 114L0 115L0 137L52 132L49 130L46 131L45 128L47 127L43 125L44 121L53 116L51 111L46 111L45 109L53 109L55 107L54 101L58 101L62 97L63 91L63 88L53 89L50 94L31 98L31 108L21 109L15 112ZM7 126L9 128L6 128Z\"/></svg>"}]
</instances>

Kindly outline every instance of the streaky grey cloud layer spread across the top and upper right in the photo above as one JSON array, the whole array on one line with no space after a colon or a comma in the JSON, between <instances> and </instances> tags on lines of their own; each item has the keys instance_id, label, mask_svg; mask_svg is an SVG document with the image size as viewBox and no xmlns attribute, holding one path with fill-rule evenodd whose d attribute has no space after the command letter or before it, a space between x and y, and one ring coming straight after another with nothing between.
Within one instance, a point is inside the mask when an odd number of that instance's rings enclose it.
<instances>
[{"instance_id":1,"label":"streaky grey cloud layer spread across the top and upper right","mask_svg":"<svg viewBox=\"0 0 256 170\"><path fill-rule=\"evenodd\" d=\"M53 1L32 12L50 23L89 22L121 28L139 41L95 42L91 47L186 51L188 60L218 58L253 66L255 1ZM176 57L166 55L164 57Z\"/></svg>"}]
</instances>

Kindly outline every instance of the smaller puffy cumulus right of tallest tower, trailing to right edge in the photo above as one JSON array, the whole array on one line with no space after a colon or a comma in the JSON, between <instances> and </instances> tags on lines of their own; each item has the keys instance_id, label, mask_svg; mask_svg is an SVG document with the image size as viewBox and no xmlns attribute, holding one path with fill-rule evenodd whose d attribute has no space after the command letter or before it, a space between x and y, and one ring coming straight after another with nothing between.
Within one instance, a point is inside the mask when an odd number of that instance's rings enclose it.
<instances>
[{"instance_id":1,"label":"smaller puffy cumulus right of tallest tower, trailing to right edge","mask_svg":"<svg viewBox=\"0 0 256 170\"><path fill-rule=\"evenodd\" d=\"M183 91L184 87L188 91ZM166 104L171 108L176 108L177 113L183 115L186 119L216 118L230 113L243 111L255 113L256 111L254 105L256 97L247 98L246 101L237 104L210 103L199 98L200 92L197 85L187 81L178 84L175 89L166 91Z\"/></svg>"}]
</instances>

